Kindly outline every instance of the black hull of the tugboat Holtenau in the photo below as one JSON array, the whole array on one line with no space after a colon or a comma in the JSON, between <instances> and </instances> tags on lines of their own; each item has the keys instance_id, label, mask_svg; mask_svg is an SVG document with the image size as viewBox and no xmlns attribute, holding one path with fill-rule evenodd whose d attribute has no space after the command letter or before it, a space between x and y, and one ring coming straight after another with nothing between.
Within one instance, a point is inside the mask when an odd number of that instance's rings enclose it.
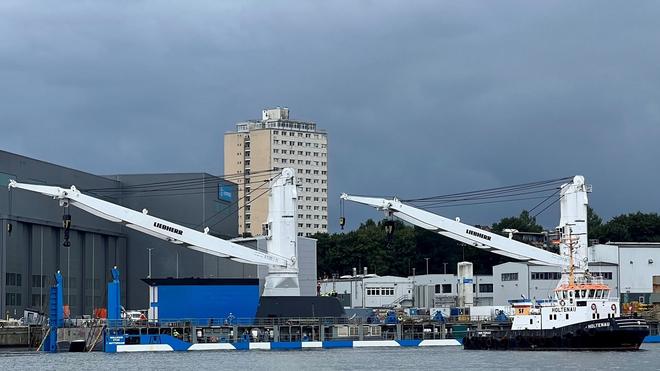
<instances>
[{"instance_id":1,"label":"black hull of the tugboat Holtenau","mask_svg":"<svg viewBox=\"0 0 660 371\"><path fill-rule=\"evenodd\" d=\"M649 334L642 318L606 318L544 330L471 331L473 350L637 350Z\"/></svg>"}]
</instances>

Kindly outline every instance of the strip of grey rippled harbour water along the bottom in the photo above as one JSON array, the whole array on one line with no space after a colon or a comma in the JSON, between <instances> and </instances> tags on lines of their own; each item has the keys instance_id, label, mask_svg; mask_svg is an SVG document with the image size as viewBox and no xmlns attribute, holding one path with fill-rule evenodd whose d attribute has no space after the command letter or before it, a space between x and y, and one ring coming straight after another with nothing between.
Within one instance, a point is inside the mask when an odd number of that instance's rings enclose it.
<instances>
[{"instance_id":1,"label":"strip of grey rippled harbour water along the bottom","mask_svg":"<svg viewBox=\"0 0 660 371\"><path fill-rule=\"evenodd\" d=\"M658 370L660 344L639 352L467 351L460 347L58 353L0 351L0 370Z\"/></svg>"}]
</instances>

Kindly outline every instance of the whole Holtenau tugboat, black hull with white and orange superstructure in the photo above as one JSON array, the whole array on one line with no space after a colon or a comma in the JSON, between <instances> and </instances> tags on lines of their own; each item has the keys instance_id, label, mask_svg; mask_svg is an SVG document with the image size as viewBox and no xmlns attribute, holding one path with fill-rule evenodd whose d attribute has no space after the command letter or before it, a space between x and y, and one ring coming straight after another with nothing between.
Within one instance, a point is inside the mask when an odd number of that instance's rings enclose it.
<instances>
[{"instance_id":1,"label":"whole Holtenau tugboat, black hull with white and orange superstructure","mask_svg":"<svg viewBox=\"0 0 660 371\"><path fill-rule=\"evenodd\" d=\"M588 270L576 277L570 230L567 247L569 269L562 273L553 300L513 302L510 330L470 331L464 349L638 350L649 334L646 321L622 317L610 288Z\"/></svg>"}]
</instances>

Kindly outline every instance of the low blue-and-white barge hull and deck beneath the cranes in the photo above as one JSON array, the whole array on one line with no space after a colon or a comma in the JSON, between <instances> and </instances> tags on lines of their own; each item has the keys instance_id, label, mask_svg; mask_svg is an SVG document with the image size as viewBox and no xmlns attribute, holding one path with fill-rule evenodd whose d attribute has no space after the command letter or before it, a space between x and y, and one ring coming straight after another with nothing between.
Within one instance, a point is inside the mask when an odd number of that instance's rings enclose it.
<instances>
[{"instance_id":1,"label":"low blue-and-white barge hull and deck beneath the cranes","mask_svg":"<svg viewBox=\"0 0 660 371\"><path fill-rule=\"evenodd\" d=\"M363 324L346 318L124 323L104 333L104 351L109 353L460 345L459 340L446 338L444 323Z\"/></svg>"}]
</instances>

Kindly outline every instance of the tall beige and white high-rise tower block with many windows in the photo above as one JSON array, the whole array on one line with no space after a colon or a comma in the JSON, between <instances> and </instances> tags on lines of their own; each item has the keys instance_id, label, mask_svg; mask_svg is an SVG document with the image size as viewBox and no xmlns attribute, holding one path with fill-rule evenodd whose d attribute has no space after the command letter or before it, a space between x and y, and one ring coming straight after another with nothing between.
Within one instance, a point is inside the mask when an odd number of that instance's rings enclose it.
<instances>
[{"instance_id":1,"label":"tall beige and white high-rise tower block with many windows","mask_svg":"<svg viewBox=\"0 0 660 371\"><path fill-rule=\"evenodd\" d=\"M328 137L307 121L291 120L288 108L265 109L261 120L236 124L225 133L224 169L237 178L238 232L263 235L268 199L259 197L270 170L296 170L298 189L298 235L328 231ZM247 205L249 203L249 205Z\"/></svg>"}]
</instances>

